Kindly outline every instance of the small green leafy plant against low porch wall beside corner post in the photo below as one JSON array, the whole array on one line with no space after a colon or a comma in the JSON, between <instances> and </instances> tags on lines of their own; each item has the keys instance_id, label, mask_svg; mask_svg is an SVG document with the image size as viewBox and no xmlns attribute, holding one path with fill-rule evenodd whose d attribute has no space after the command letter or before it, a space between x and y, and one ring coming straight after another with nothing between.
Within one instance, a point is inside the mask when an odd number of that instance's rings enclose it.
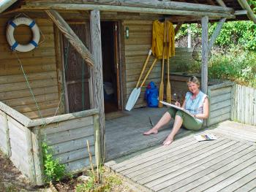
<instances>
[{"instance_id":1,"label":"small green leafy plant against low porch wall beside corner post","mask_svg":"<svg viewBox=\"0 0 256 192\"><path fill-rule=\"evenodd\" d=\"M46 142L42 142L42 154L44 164L45 182L59 181L66 175L66 168L59 164L58 159L53 158L52 148Z\"/></svg>"}]
</instances>

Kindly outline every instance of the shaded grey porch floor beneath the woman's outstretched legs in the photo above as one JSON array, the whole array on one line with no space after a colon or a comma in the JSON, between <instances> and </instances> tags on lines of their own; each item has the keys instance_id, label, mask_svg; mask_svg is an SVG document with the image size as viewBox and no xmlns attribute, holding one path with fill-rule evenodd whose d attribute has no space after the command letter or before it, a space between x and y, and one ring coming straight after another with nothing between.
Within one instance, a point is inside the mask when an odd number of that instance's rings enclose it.
<instances>
[{"instance_id":1,"label":"shaded grey porch floor beneath the woman's outstretched legs","mask_svg":"<svg viewBox=\"0 0 256 192\"><path fill-rule=\"evenodd\" d=\"M124 155L146 150L159 145L170 133L173 120L161 128L159 134L143 136L143 132L151 128L151 122L156 124L167 108L144 107L130 112L118 112L106 116L106 150L107 161ZM120 116L121 117L118 117ZM189 134L186 128L181 128L176 138Z\"/></svg>"}]
</instances>

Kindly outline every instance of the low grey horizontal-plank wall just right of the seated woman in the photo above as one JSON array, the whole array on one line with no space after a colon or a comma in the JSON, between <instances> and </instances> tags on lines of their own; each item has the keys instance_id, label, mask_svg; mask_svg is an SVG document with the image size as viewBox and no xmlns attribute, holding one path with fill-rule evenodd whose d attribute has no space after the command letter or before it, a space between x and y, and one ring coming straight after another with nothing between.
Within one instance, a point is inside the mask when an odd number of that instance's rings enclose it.
<instances>
[{"instance_id":1,"label":"low grey horizontal-plank wall just right of the seated woman","mask_svg":"<svg viewBox=\"0 0 256 192\"><path fill-rule=\"evenodd\" d=\"M225 83L223 83L223 85L225 85ZM219 88L217 88L218 86L219 85L213 85L208 87L210 115L207 120L207 126L228 120L231 117L231 90L233 85L227 83L226 86L219 86Z\"/></svg>"}]
</instances>

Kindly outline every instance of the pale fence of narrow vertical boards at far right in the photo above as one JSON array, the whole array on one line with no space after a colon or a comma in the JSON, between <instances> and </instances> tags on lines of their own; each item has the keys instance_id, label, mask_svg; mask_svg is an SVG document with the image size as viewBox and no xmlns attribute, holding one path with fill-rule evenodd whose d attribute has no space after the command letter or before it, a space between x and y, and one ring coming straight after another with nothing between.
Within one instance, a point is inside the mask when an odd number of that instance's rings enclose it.
<instances>
[{"instance_id":1,"label":"pale fence of narrow vertical boards at far right","mask_svg":"<svg viewBox=\"0 0 256 192\"><path fill-rule=\"evenodd\" d=\"M236 85L231 119L256 126L256 88Z\"/></svg>"}]
</instances>

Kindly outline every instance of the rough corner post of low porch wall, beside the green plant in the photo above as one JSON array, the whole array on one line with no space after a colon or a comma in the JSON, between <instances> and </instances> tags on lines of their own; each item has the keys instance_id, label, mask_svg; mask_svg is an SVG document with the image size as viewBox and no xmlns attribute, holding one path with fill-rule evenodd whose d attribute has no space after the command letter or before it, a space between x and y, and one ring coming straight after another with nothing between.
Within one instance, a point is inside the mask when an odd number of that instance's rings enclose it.
<instances>
[{"instance_id":1,"label":"rough corner post of low porch wall, beside the green plant","mask_svg":"<svg viewBox=\"0 0 256 192\"><path fill-rule=\"evenodd\" d=\"M34 169L37 179L37 185L44 185L43 157L42 157L42 139L39 133L39 126L32 129L32 143L34 153Z\"/></svg>"}]
</instances>

